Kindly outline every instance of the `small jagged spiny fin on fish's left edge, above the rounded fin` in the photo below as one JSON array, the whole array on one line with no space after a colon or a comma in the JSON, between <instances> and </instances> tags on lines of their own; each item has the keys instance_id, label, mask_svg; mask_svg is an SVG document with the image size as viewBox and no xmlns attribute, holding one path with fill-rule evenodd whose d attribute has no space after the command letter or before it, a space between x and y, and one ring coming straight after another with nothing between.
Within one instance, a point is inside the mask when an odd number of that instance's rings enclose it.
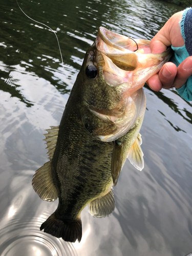
<instances>
[{"instance_id":1,"label":"small jagged spiny fin on fish's left edge, above the rounded fin","mask_svg":"<svg viewBox=\"0 0 192 256\"><path fill-rule=\"evenodd\" d=\"M48 150L48 156L49 159L51 160L53 158L53 153L55 151L55 146L57 143L57 137L58 137L58 131L59 131L59 126L50 126L51 129L46 130L48 133L44 134L46 138L44 139L47 144L46 149Z\"/></svg>"}]
</instances>

